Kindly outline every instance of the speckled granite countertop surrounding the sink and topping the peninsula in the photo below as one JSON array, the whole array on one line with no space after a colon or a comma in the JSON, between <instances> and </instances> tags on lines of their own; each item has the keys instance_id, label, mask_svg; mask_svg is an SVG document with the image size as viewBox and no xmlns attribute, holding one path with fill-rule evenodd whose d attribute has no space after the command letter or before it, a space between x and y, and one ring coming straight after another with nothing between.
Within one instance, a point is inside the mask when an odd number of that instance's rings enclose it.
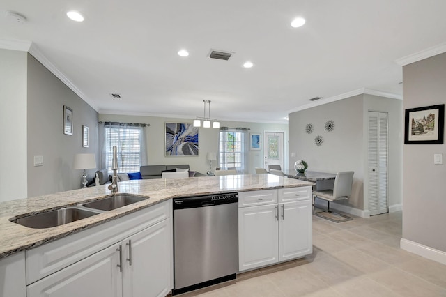
<instances>
[{"instance_id":1,"label":"speckled granite countertop surrounding the sink and topping the peninsula","mask_svg":"<svg viewBox=\"0 0 446 297\"><path fill-rule=\"evenodd\" d=\"M182 179L144 179L118 183L120 193L132 193L150 197L144 201L116 208L113 211L93 215L61 226L32 229L10 222L11 218L24 214L40 213L63 206L73 206L109 196L107 185L91 187L51 195L18 199L0 203L0 259L15 252L42 245L84 229L120 218L142 208L174 197L206 195L233 191L292 188L314 185L307 181L284 178L272 174L247 174L235 176L206 176Z\"/></svg>"}]
</instances>

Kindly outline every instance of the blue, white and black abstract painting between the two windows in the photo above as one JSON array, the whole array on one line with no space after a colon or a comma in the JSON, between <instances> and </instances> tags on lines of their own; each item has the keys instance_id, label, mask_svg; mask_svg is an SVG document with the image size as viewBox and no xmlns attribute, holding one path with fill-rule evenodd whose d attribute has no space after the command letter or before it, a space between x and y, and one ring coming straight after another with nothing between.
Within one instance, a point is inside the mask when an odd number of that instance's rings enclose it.
<instances>
[{"instance_id":1,"label":"blue, white and black abstract painting between the two windows","mask_svg":"<svg viewBox=\"0 0 446 297\"><path fill-rule=\"evenodd\" d=\"M198 127L166 123L166 156L198 156Z\"/></svg>"}]
</instances>

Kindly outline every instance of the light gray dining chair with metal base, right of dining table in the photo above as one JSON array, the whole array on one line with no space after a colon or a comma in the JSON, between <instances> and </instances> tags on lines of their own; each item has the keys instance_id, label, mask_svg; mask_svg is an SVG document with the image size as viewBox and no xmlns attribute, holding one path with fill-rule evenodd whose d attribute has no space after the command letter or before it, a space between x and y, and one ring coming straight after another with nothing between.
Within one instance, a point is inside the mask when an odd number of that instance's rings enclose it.
<instances>
[{"instance_id":1,"label":"light gray dining chair with metal base, right of dining table","mask_svg":"<svg viewBox=\"0 0 446 297\"><path fill-rule=\"evenodd\" d=\"M334 213L336 215L339 215L346 220L353 220L353 218L343 215L341 213L335 213L334 211L330 211L330 202L336 201L336 200L342 200L342 199L348 199L351 195L351 188L353 185L353 174L355 172L338 172L336 174L336 178L334 178L334 187L332 190L322 190L322 191L313 191L313 199L314 201L316 198L323 199L327 201L327 212L328 213ZM321 213L324 211L321 211ZM318 213L314 213L314 215L318 215ZM323 215L318 215L321 218L325 218L330 220L330 218L327 218ZM336 222L339 222L337 220Z\"/></svg>"}]
</instances>

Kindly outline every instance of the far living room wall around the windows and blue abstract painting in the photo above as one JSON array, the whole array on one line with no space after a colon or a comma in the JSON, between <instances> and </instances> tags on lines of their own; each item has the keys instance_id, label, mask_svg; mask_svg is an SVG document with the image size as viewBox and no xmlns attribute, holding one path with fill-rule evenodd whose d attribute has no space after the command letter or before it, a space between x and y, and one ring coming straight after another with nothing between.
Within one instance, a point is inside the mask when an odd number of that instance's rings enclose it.
<instances>
[{"instance_id":1,"label":"far living room wall around the windows and blue abstract painting","mask_svg":"<svg viewBox=\"0 0 446 297\"><path fill-rule=\"evenodd\" d=\"M194 171L206 174L209 170L209 161L206 160L206 153L215 151L218 153L218 129L199 128L199 156L197 157L166 157L164 155L165 124L164 123L192 123L192 119L161 118L156 116L123 116L116 114L100 114L100 121L120 121L124 123L149 123L147 128L147 152L149 165L175 165L189 164ZM220 121L220 126L230 128L245 127L250 128L251 133L263 132L284 132L284 146L287 147L288 125L271 123L247 123L235 121ZM263 136L262 136L263 139ZM249 173L254 174L255 167L263 167L263 143L261 151L248 152ZM286 155L286 151L285 151ZM285 164L288 160L285 160ZM213 170L217 165L213 161Z\"/></svg>"}]
</instances>

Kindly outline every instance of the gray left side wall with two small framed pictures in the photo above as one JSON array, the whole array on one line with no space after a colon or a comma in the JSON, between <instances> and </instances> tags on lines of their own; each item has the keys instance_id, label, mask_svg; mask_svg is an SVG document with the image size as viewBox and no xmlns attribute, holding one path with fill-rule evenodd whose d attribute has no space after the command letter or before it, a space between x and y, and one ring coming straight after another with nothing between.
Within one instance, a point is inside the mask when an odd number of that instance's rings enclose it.
<instances>
[{"instance_id":1,"label":"gray left side wall with two small framed pictures","mask_svg":"<svg viewBox=\"0 0 446 297\"><path fill-rule=\"evenodd\" d=\"M98 160L98 113L30 54L27 93L29 197L80 188L82 170L72 169L72 160L76 153ZM63 134L63 105L73 111L73 135ZM82 147L82 125L89 127L89 148ZM43 166L33 166L35 155L43 155ZM94 173L87 170L90 178Z\"/></svg>"}]
</instances>

